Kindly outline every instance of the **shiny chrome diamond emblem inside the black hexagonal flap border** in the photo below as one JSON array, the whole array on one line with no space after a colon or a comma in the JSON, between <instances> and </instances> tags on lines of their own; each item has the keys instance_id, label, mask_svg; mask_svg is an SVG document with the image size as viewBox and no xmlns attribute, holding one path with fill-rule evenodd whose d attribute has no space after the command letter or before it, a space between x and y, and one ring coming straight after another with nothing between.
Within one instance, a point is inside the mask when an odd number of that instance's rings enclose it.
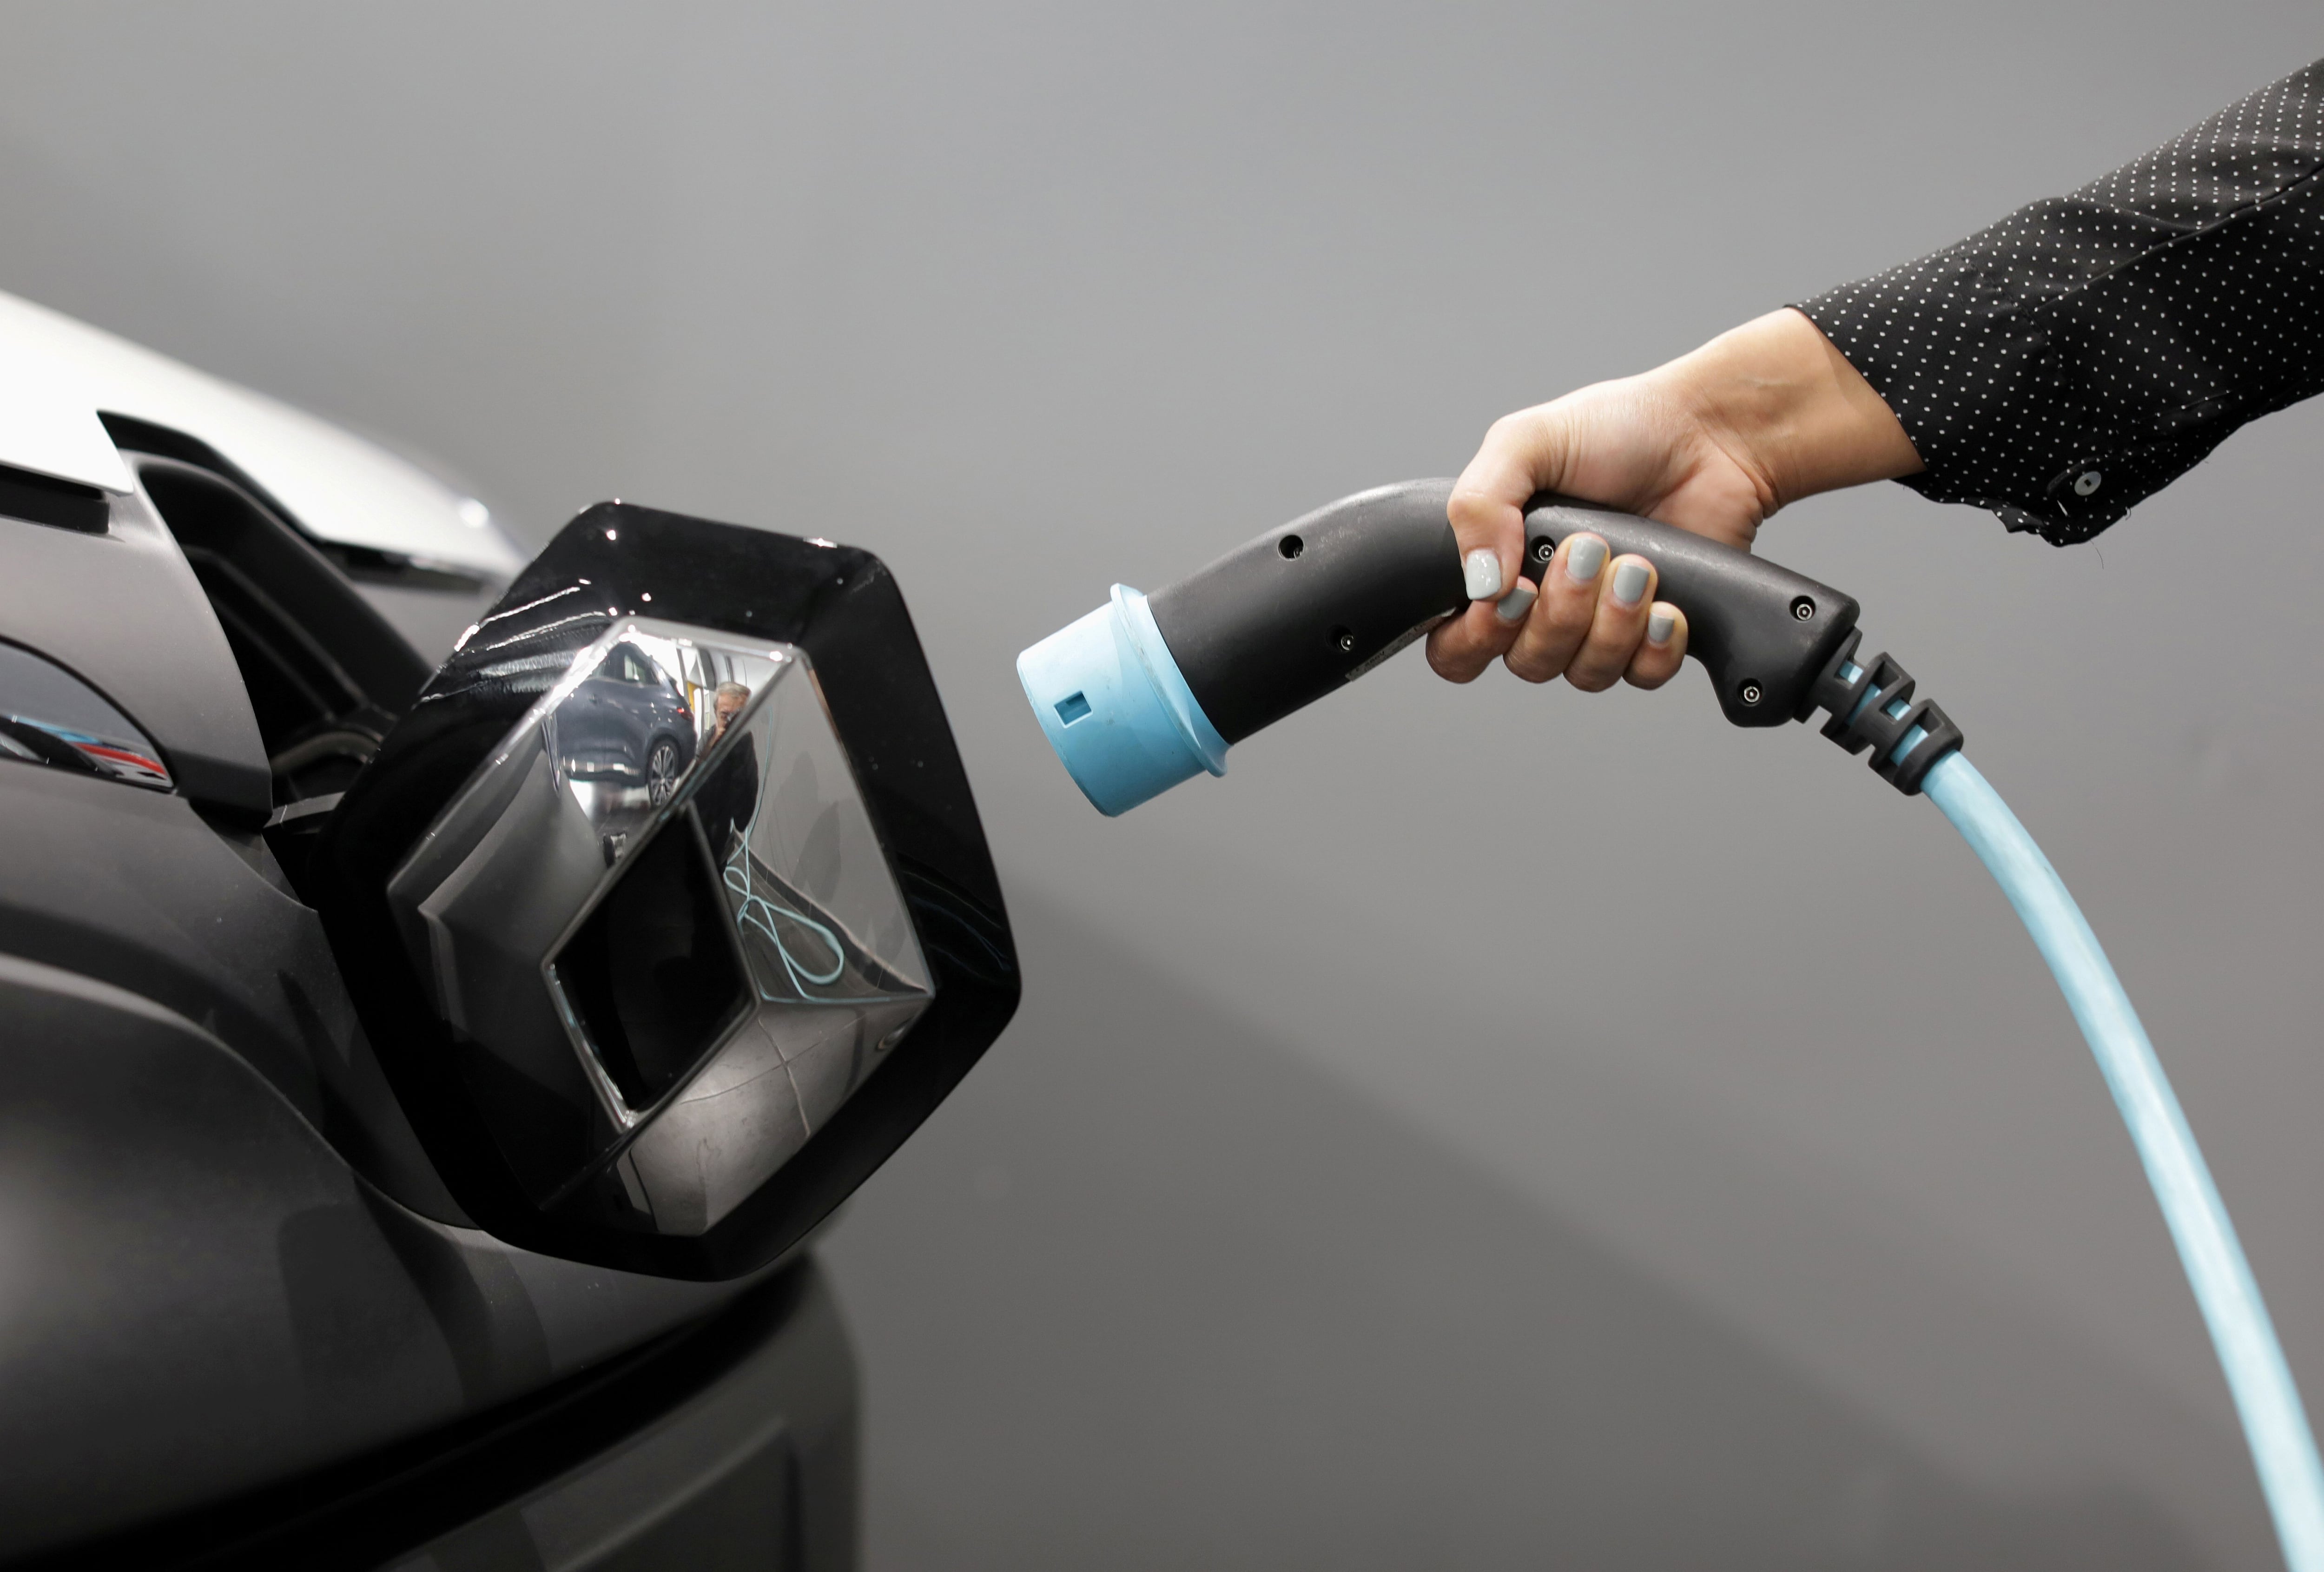
<instances>
[{"instance_id":1,"label":"shiny chrome diamond emblem inside the black hexagonal flap border","mask_svg":"<svg viewBox=\"0 0 2324 1572\"><path fill-rule=\"evenodd\" d=\"M934 993L806 656L623 619L388 881L541 1205L700 1235Z\"/></svg>"}]
</instances>

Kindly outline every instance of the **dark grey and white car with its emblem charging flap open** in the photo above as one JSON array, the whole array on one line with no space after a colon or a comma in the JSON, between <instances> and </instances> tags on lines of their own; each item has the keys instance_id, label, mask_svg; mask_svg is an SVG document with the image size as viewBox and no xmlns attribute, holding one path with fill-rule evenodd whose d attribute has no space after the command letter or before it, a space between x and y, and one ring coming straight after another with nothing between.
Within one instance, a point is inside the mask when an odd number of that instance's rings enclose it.
<instances>
[{"instance_id":1,"label":"dark grey and white car with its emblem charging flap open","mask_svg":"<svg viewBox=\"0 0 2324 1572\"><path fill-rule=\"evenodd\" d=\"M813 1232L1016 956L892 577L751 523L528 558L0 295L0 1565L853 1565Z\"/></svg>"}]
</instances>

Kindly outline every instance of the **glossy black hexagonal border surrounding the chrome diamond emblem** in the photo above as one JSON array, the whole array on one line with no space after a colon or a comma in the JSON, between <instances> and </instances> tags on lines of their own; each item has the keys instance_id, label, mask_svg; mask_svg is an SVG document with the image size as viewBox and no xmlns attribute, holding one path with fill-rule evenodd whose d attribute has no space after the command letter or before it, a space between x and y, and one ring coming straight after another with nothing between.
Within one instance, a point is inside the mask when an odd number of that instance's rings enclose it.
<instances>
[{"instance_id":1,"label":"glossy black hexagonal border surrounding the chrome diamond emblem","mask_svg":"<svg viewBox=\"0 0 2324 1572\"><path fill-rule=\"evenodd\" d=\"M414 839L555 681L562 658L618 616L806 651L937 986L871 1081L700 1237L623 1232L583 1207L544 1212L525 1198L481 1128L460 1044L430 1009L383 898ZM1018 1000L976 802L885 565L851 546L621 502L574 519L430 679L332 814L307 884L388 1077L469 1214L514 1244L637 1272L718 1279L779 1256L918 1128Z\"/></svg>"}]
</instances>

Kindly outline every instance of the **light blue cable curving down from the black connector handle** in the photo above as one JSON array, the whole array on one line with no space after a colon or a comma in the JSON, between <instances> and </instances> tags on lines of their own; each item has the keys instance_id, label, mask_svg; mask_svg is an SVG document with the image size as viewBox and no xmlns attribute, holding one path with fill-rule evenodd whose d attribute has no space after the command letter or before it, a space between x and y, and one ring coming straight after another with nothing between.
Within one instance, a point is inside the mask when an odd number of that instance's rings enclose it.
<instances>
[{"instance_id":1,"label":"light blue cable curving down from the black connector handle","mask_svg":"<svg viewBox=\"0 0 2324 1572\"><path fill-rule=\"evenodd\" d=\"M1896 746L1903 758L1917 733ZM2275 1342L2268 1307L2252 1281L2252 1265L2236 1242L2219 1188L2210 1179L2203 1151L2194 1144L2187 1114L2180 1112L2171 1079L2154 1044L2138 1023L2115 967L2089 933L2082 909L2073 905L2050 858L2017 823L2001 795L1959 753L1948 753L1929 770L1922 791L1952 821L1971 851L2017 907L2027 933L2057 977L2122 1123L2131 1130L2147 1184L2171 1226L2187 1286L2203 1309L2226 1388L2236 1398L2243 1435L2252 1446L2259 1488L2275 1516L2275 1537L2291 1572L2324 1572L2324 1467L2317 1463L2315 1432L2291 1381L2291 1365Z\"/></svg>"}]
</instances>

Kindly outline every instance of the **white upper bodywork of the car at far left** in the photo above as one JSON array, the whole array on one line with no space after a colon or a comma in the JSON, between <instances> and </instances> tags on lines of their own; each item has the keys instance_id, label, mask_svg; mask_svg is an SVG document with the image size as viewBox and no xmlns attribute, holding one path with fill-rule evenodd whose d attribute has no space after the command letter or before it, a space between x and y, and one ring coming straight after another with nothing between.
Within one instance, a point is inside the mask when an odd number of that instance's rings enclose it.
<instances>
[{"instance_id":1,"label":"white upper bodywork of the car at far left","mask_svg":"<svg viewBox=\"0 0 2324 1572\"><path fill-rule=\"evenodd\" d=\"M0 463L132 491L98 423L125 414L207 442L339 546L511 579L528 553L474 498L374 442L170 356L0 293Z\"/></svg>"}]
</instances>

